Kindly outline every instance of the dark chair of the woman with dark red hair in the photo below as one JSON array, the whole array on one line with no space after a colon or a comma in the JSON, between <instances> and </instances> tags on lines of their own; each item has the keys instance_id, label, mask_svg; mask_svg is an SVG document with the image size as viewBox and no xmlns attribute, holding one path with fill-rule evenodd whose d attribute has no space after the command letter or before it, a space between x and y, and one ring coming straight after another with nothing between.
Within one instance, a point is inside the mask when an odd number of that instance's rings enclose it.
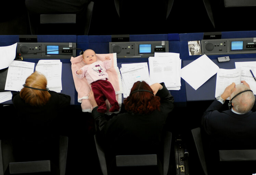
<instances>
[{"instance_id":1,"label":"dark chair of the woman with dark red hair","mask_svg":"<svg viewBox=\"0 0 256 175\"><path fill-rule=\"evenodd\" d=\"M140 155L117 155L116 167L141 167L141 166L157 166L161 175L167 175L169 170L169 160L171 152L171 138L172 133L166 132L164 137L163 160L160 160L157 154L140 154ZM96 150L100 162L100 167L103 175L107 175L107 163L103 148L99 145L97 135L94 135Z\"/></svg>"}]
</instances>

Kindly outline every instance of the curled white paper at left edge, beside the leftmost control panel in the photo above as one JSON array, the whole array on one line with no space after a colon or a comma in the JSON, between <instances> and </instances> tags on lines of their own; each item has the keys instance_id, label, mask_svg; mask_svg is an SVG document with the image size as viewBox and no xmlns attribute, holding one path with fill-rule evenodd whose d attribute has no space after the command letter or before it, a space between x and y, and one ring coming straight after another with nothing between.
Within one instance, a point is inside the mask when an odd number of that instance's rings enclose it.
<instances>
[{"instance_id":1,"label":"curled white paper at left edge, beside the leftmost control panel","mask_svg":"<svg viewBox=\"0 0 256 175\"><path fill-rule=\"evenodd\" d=\"M16 47L17 43L0 47L0 69L4 69L10 66L16 57Z\"/></svg>"}]
</instances>

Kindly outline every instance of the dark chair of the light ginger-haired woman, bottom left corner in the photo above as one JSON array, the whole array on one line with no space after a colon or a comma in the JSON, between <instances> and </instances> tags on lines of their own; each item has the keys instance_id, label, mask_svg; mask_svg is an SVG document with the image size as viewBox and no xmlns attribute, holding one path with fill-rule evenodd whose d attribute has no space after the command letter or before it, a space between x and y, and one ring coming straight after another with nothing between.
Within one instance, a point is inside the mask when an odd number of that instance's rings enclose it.
<instances>
[{"instance_id":1,"label":"dark chair of the light ginger-haired woman, bottom left corner","mask_svg":"<svg viewBox=\"0 0 256 175\"><path fill-rule=\"evenodd\" d=\"M56 155L59 155L59 167L56 167L57 170L54 169L51 160L16 162L13 153L15 142L7 139L0 140L0 175L26 173L65 175L68 137L60 136L59 139L59 152L56 152Z\"/></svg>"}]
</instances>

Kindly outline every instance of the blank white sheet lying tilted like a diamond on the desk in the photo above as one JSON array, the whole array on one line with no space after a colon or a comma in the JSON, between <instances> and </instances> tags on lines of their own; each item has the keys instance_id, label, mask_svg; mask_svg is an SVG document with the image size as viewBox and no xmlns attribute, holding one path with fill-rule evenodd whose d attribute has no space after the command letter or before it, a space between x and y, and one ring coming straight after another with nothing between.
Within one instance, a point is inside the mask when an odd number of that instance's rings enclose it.
<instances>
[{"instance_id":1,"label":"blank white sheet lying tilted like a diamond on the desk","mask_svg":"<svg viewBox=\"0 0 256 175\"><path fill-rule=\"evenodd\" d=\"M181 69L181 78L197 90L218 70L219 67L210 58L202 55Z\"/></svg>"}]
</instances>

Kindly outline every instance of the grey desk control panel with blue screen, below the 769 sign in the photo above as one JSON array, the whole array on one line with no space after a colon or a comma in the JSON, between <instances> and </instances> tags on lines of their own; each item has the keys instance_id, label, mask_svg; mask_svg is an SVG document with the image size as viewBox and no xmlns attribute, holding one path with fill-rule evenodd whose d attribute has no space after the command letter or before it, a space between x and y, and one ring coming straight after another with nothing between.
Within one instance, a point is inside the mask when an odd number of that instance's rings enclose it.
<instances>
[{"instance_id":1,"label":"grey desk control panel with blue screen, below the 769 sign","mask_svg":"<svg viewBox=\"0 0 256 175\"><path fill-rule=\"evenodd\" d=\"M254 38L201 40L202 54L247 54L256 53Z\"/></svg>"}]
</instances>

